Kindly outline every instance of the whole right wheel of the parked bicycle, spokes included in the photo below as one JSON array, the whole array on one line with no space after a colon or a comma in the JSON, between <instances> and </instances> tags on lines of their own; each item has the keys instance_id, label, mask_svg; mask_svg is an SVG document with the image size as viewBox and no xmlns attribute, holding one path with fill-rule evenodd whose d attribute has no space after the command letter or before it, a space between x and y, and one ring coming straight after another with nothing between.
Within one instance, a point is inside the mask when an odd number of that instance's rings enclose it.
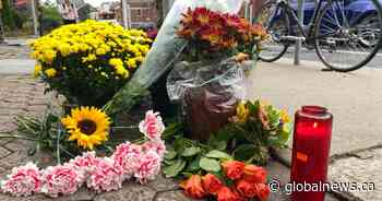
<instances>
[{"instance_id":1,"label":"whole right wheel of the parked bicycle, spokes included","mask_svg":"<svg viewBox=\"0 0 382 201\"><path fill-rule=\"evenodd\" d=\"M378 0L333 0L315 23L315 50L330 69L354 71L378 54L381 31L382 10Z\"/></svg>"}]
</instances>

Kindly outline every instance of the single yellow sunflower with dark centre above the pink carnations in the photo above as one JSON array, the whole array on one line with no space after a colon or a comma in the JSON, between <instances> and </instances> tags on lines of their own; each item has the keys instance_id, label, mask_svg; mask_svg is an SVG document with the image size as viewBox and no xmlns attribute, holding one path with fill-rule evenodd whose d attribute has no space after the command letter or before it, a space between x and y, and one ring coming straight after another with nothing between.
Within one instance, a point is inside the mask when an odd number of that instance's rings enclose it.
<instances>
[{"instance_id":1,"label":"single yellow sunflower with dark centre above the pink carnations","mask_svg":"<svg viewBox=\"0 0 382 201\"><path fill-rule=\"evenodd\" d=\"M69 140L83 149L93 150L108 140L110 118L95 107L74 108L61 122L70 133Z\"/></svg>"}]
</instances>

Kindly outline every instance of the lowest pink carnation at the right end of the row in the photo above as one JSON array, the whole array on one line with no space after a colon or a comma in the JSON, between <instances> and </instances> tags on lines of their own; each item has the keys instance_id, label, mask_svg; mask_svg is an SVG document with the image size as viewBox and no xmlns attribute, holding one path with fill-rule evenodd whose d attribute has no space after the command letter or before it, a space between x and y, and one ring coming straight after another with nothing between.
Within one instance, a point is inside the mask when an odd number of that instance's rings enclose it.
<instances>
[{"instance_id":1,"label":"lowest pink carnation at the right end of the row","mask_svg":"<svg viewBox=\"0 0 382 201\"><path fill-rule=\"evenodd\" d=\"M155 179L155 176L159 174L160 163L160 156L155 151L148 151L141 155L134 176L141 184L146 184L148 180Z\"/></svg>"}]
</instances>

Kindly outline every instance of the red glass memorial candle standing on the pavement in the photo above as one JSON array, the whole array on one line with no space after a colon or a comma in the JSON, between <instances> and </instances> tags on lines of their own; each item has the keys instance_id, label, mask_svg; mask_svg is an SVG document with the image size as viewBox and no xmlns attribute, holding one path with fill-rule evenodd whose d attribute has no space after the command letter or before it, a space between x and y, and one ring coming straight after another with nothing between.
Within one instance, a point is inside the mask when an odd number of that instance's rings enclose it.
<instances>
[{"instance_id":1,"label":"red glass memorial candle standing on the pavement","mask_svg":"<svg viewBox=\"0 0 382 201\"><path fill-rule=\"evenodd\" d=\"M303 106L296 113L291 158L291 184L319 185L326 182L331 150L333 116L319 106ZM293 201L323 201L321 190L293 192Z\"/></svg>"}]
</instances>

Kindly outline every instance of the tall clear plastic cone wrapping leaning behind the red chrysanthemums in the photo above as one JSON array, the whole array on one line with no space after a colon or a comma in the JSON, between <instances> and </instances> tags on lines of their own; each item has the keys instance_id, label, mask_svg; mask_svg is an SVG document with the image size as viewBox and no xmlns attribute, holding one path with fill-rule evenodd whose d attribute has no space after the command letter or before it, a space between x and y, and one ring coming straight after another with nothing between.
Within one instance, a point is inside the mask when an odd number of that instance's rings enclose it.
<instances>
[{"instance_id":1,"label":"tall clear plastic cone wrapping leaning behind the red chrysanthemums","mask_svg":"<svg viewBox=\"0 0 382 201\"><path fill-rule=\"evenodd\" d=\"M104 107L108 114L116 114L123 109L130 110L179 58L188 42L176 35L176 27L180 25L181 13L189 8L205 7L214 11L236 13L243 0L179 0L175 1L171 10L153 44L145 61L134 76L121 91Z\"/></svg>"}]
</instances>

